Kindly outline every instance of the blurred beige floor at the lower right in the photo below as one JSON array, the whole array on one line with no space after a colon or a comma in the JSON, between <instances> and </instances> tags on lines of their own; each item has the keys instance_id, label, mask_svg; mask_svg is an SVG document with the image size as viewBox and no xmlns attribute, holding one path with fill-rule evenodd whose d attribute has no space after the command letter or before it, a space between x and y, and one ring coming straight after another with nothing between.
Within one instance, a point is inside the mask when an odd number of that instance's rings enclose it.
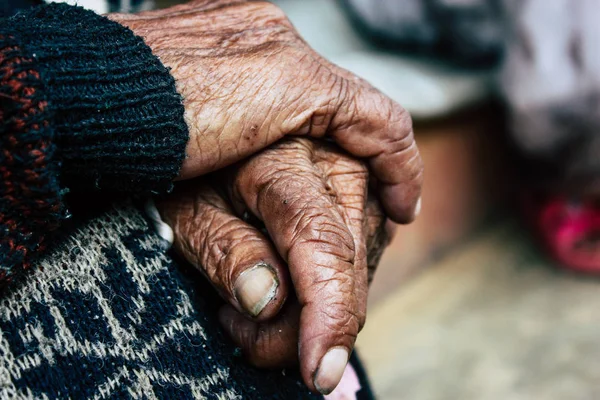
<instances>
[{"instance_id":1,"label":"blurred beige floor at the lower right","mask_svg":"<svg viewBox=\"0 0 600 400\"><path fill-rule=\"evenodd\" d=\"M501 222L378 301L358 348L381 399L600 399L600 281Z\"/></svg>"}]
</instances>

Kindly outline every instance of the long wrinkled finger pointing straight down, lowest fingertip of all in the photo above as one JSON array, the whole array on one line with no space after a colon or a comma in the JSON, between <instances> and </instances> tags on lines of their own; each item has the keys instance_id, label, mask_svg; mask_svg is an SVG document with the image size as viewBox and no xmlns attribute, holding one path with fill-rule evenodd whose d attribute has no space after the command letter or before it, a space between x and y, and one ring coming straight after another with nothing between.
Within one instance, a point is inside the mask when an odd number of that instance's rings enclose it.
<instances>
[{"instance_id":1,"label":"long wrinkled finger pointing straight down, lowest fingertip of all","mask_svg":"<svg viewBox=\"0 0 600 400\"><path fill-rule=\"evenodd\" d=\"M302 309L302 377L310 389L329 393L341 379L364 315L355 294L353 237L314 170L311 149L297 144L282 143L251 160L235 187L288 262ZM282 157L297 162L278 169Z\"/></svg>"}]
</instances>

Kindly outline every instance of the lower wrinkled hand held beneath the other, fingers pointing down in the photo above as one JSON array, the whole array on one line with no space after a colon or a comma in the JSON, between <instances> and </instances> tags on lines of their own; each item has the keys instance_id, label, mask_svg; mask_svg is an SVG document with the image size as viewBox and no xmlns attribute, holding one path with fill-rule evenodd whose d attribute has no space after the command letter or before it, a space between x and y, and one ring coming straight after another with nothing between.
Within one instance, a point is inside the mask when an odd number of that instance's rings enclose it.
<instances>
[{"instance_id":1,"label":"lower wrinkled hand held beneath the other, fingers pointing down","mask_svg":"<svg viewBox=\"0 0 600 400\"><path fill-rule=\"evenodd\" d=\"M369 266L388 242L386 219L368 201L367 169L332 145L297 138L225 174L215 185L186 182L158 203L175 248L235 308L221 319L250 361L272 367L299 356L309 388L330 392L365 322ZM257 322L286 297L281 315Z\"/></svg>"}]
</instances>

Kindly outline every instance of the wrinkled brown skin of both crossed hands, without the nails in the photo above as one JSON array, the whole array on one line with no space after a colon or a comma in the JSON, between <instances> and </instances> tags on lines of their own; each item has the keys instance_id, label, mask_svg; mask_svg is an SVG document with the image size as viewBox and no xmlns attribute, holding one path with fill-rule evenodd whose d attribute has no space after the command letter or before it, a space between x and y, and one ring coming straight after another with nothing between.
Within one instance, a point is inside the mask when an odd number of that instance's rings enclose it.
<instances>
[{"instance_id":1,"label":"wrinkled brown skin of both crossed hands, without the nails","mask_svg":"<svg viewBox=\"0 0 600 400\"><path fill-rule=\"evenodd\" d=\"M161 213L177 250L234 307L222 320L249 358L263 366L299 358L315 390L327 349L351 350L364 324L367 255L375 259L385 242L378 204L396 222L418 212L423 171L410 117L316 54L270 3L196 0L109 18L145 39L183 96L190 140L179 179L267 149L219 173L216 185L184 184ZM349 156L300 137L333 141ZM244 221L246 213L268 236ZM266 308L245 319L234 285L259 261L279 285Z\"/></svg>"}]
</instances>

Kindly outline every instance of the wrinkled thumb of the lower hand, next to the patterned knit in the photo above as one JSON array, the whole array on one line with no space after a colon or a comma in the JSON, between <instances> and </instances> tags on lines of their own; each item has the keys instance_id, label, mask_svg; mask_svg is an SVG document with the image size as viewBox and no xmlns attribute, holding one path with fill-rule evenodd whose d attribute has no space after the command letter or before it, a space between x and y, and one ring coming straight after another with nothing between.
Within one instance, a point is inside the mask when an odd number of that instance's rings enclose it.
<instances>
[{"instance_id":1,"label":"wrinkled thumb of the lower hand, next to the patterned knit","mask_svg":"<svg viewBox=\"0 0 600 400\"><path fill-rule=\"evenodd\" d=\"M264 320L273 317L288 293L287 270L255 227L237 218L208 186L191 182L159 203L175 233L175 249L199 268L238 311Z\"/></svg>"}]
</instances>

